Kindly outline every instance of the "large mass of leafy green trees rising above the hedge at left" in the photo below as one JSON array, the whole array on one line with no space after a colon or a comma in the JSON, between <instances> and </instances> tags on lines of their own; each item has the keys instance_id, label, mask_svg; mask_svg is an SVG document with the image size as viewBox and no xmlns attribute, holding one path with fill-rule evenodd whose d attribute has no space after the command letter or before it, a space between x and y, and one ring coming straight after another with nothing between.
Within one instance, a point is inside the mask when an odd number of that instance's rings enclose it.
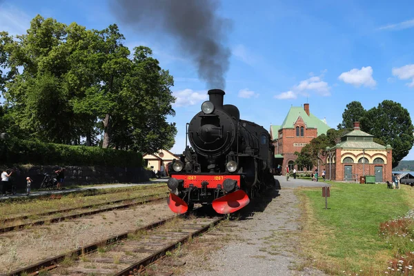
<instances>
[{"instance_id":1,"label":"large mass of leafy green trees rising above the hedge at left","mask_svg":"<svg viewBox=\"0 0 414 276\"><path fill-rule=\"evenodd\" d=\"M42 141L81 144L84 137L93 145L103 133L104 148L172 147L177 130L166 122L175 115L172 77L150 48L135 48L131 57L123 41L116 25L86 30L39 15L27 34L0 32L8 118Z\"/></svg>"}]
</instances>

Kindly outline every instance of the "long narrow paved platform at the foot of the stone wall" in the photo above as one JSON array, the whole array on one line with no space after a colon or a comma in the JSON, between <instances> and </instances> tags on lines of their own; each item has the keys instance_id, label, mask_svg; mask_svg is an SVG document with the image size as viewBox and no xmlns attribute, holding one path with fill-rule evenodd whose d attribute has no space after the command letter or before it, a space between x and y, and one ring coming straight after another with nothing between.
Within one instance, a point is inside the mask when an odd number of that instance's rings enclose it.
<instances>
[{"instance_id":1,"label":"long narrow paved platform at the foot of the stone wall","mask_svg":"<svg viewBox=\"0 0 414 276\"><path fill-rule=\"evenodd\" d=\"M132 187L132 186L141 186L141 185L150 185L150 184L157 184L166 182L168 178L161 178L161 179L155 179L140 183L129 183L129 184L106 184L106 185L99 185L97 186L88 186L83 188L64 188L63 190L37 190L34 192L30 192L30 195L26 195L26 193L17 193L16 195L6 195L1 196L0 195L0 201L8 200L8 199L17 199L21 197L44 197L48 195L59 195L59 194L65 194L65 193L76 193L81 192L83 190L96 190L96 189L108 189L108 188L124 188L124 187Z\"/></svg>"}]
</instances>

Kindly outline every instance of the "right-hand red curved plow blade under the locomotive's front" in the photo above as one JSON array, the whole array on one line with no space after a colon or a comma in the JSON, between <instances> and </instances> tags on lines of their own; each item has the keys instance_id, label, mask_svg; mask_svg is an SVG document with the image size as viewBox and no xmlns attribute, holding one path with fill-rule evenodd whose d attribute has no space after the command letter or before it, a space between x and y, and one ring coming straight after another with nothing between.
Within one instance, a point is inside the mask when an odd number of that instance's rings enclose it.
<instances>
[{"instance_id":1,"label":"right-hand red curved plow blade under the locomotive's front","mask_svg":"<svg viewBox=\"0 0 414 276\"><path fill-rule=\"evenodd\" d=\"M213 209L219 214L230 214L242 209L249 204L250 199L243 190L236 190L233 193L213 200Z\"/></svg>"}]
</instances>

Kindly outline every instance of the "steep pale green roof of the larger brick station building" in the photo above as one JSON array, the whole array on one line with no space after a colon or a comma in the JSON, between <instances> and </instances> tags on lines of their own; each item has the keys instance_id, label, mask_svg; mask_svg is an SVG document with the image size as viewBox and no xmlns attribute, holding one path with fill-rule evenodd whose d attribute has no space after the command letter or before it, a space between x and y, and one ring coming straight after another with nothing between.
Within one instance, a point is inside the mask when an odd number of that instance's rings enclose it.
<instances>
[{"instance_id":1,"label":"steep pale green roof of the larger brick station building","mask_svg":"<svg viewBox=\"0 0 414 276\"><path fill-rule=\"evenodd\" d=\"M283 124L279 129L294 128L295 122L299 116L304 120L306 128L317 128L317 136L326 134L326 132L331 129L330 126L325 124L325 122L321 119L318 119L311 112L309 112L309 115L307 115L304 108L300 106L292 106L290 108L288 115L286 115L286 118L284 119Z\"/></svg>"}]
</instances>

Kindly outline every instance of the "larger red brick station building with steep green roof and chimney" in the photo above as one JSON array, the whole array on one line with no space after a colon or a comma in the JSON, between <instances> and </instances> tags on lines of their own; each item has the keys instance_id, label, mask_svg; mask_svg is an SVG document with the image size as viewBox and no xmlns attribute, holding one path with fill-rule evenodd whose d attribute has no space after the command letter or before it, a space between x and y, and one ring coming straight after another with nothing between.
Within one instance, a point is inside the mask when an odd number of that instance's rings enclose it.
<instances>
[{"instance_id":1,"label":"larger red brick station building with steep green roof and chimney","mask_svg":"<svg viewBox=\"0 0 414 276\"><path fill-rule=\"evenodd\" d=\"M318 119L309 110L309 103L304 107L292 106L281 126L270 126L270 136L275 145L276 166L289 166L290 170L312 170L313 168L297 168L295 152L300 152L306 144L319 135L326 134L330 127L326 119ZM284 172L284 170L283 170Z\"/></svg>"}]
</instances>

